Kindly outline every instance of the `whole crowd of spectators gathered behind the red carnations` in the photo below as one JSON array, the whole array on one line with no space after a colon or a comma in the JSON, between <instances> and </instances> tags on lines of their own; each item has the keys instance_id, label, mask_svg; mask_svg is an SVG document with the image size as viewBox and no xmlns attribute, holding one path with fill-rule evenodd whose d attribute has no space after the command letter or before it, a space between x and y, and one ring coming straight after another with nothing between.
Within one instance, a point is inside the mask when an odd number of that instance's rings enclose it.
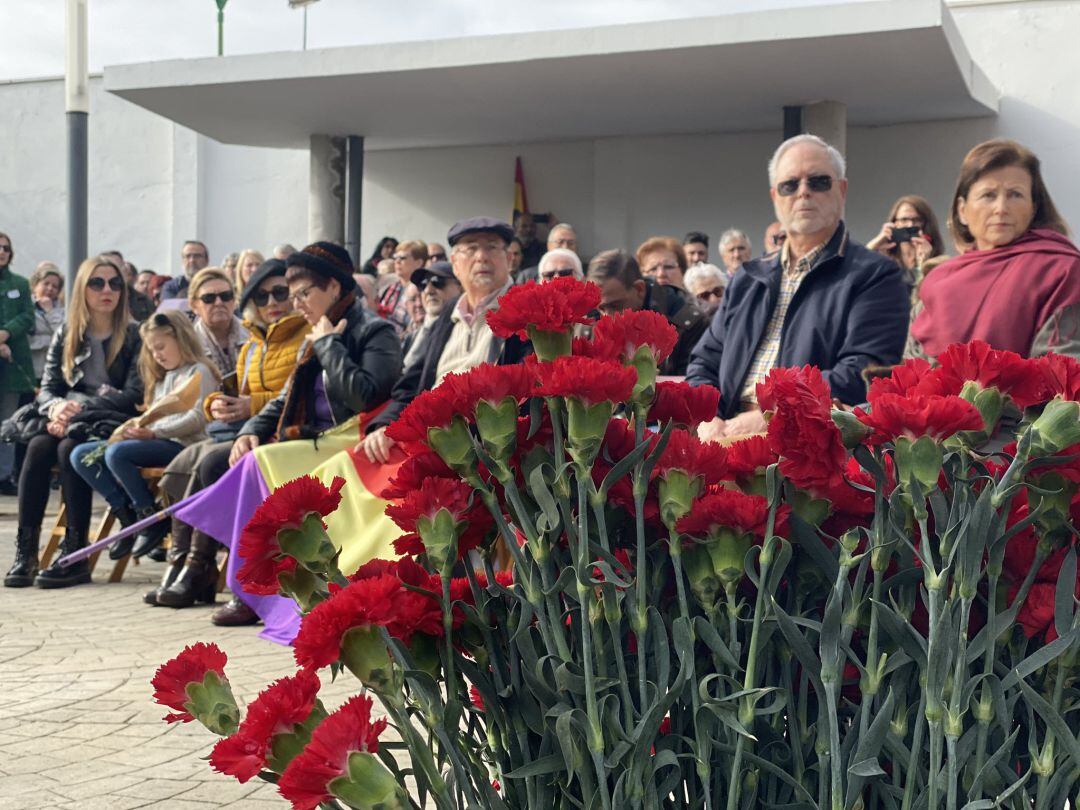
<instances>
[{"instance_id":1,"label":"whole crowd of spectators gathered behind the red carnations","mask_svg":"<svg viewBox=\"0 0 1080 810\"><path fill-rule=\"evenodd\" d=\"M56 266L43 262L27 282L12 272L12 241L0 233L0 486L18 497L4 585L90 581L85 561L38 570L54 470L67 508L62 554L71 554L87 543L93 491L132 525L160 510L140 470L164 468L170 502L208 492L225 505L205 518L144 521L110 556L168 563L149 604L213 603L219 544L235 550L268 483L355 459L395 463L387 427L420 392L482 363L524 361L529 345L486 323L517 283L583 279L599 287L600 313L667 319L679 340L662 373L720 391L716 418L700 428L705 440L765 429L756 386L778 366L813 364L836 402L856 405L868 367L933 360L957 341L1080 356L1080 251L1023 146L990 140L964 158L946 219L951 257L916 195L901 197L861 243L843 220L843 158L815 136L784 141L767 173L777 221L761 254L732 228L715 262L701 231L585 260L568 224L544 244L531 217L516 231L475 217L449 229L447 247L386 237L360 269L326 242L281 245L268 259L244 251L216 268L192 240L175 279L109 251L79 267L65 303ZM139 416L151 409L166 415ZM118 429L120 441L107 442ZM353 518L380 519L375 495L345 497L370 501L352 503ZM369 556L342 550L350 568ZM269 629L273 604L233 592L215 623L262 619Z\"/></svg>"}]
</instances>

